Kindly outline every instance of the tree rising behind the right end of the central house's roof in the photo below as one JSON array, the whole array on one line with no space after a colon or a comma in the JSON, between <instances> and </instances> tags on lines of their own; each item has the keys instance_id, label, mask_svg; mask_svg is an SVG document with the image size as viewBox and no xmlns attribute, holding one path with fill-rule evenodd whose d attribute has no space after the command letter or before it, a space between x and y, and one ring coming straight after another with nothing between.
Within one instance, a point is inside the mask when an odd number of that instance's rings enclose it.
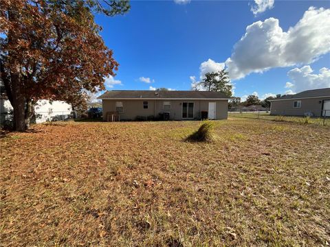
<instances>
[{"instance_id":1,"label":"tree rising behind the right end of the central house's roof","mask_svg":"<svg viewBox=\"0 0 330 247\"><path fill-rule=\"evenodd\" d=\"M201 81L201 85L207 91L217 91L224 93L228 97L232 96L232 84L230 84L228 72L225 69L206 73L205 78Z\"/></svg>"}]
</instances>

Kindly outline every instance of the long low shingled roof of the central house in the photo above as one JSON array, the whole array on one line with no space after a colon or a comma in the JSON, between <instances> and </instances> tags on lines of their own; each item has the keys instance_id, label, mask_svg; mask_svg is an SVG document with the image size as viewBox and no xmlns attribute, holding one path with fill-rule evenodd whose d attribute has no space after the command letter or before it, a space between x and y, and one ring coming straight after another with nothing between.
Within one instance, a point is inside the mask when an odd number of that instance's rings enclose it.
<instances>
[{"instance_id":1,"label":"long low shingled roof of the central house","mask_svg":"<svg viewBox=\"0 0 330 247\"><path fill-rule=\"evenodd\" d=\"M112 90L100 95L98 99L230 99L230 97L210 91Z\"/></svg>"}]
</instances>

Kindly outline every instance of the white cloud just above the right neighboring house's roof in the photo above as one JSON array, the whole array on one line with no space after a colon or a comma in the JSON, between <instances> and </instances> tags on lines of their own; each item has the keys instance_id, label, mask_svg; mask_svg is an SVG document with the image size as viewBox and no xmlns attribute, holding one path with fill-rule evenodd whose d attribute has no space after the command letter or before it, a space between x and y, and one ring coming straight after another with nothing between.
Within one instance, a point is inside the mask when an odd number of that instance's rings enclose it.
<instances>
[{"instance_id":1,"label":"white cloud just above the right neighboring house's roof","mask_svg":"<svg viewBox=\"0 0 330 247\"><path fill-rule=\"evenodd\" d=\"M287 73L291 82L289 84L289 91L285 93L301 92L309 89L323 89L330 87L330 69L322 68L319 73L313 73L313 69L309 65L290 70ZM286 85L287 85L286 84ZM285 86L287 87L287 86ZM289 92L289 93L288 93Z\"/></svg>"}]
</instances>

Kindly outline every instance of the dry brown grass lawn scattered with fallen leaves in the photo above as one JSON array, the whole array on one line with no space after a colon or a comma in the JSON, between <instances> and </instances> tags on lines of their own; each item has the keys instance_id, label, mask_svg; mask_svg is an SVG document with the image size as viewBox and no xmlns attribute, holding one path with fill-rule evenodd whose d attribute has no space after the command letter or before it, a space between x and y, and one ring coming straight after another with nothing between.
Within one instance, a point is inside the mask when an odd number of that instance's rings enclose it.
<instances>
[{"instance_id":1,"label":"dry brown grass lawn scattered with fallen leaves","mask_svg":"<svg viewBox=\"0 0 330 247\"><path fill-rule=\"evenodd\" d=\"M0 246L326 246L330 128L58 123L0 139Z\"/></svg>"}]
</instances>

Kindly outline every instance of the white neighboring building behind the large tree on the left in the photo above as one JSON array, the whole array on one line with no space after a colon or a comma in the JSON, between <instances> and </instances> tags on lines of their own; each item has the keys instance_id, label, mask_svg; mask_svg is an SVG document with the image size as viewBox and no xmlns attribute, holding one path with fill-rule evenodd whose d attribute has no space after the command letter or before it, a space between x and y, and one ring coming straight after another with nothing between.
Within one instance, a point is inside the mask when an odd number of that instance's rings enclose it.
<instances>
[{"instance_id":1,"label":"white neighboring building behind the large tree on the left","mask_svg":"<svg viewBox=\"0 0 330 247\"><path fill-rule=\"evenodd\" d=\"M1 99L0 113L1 125L8 117L8 113L12 110L12 105L8 99ZM65 120L72 114L72 106L63 101L50 102L47 99L40 99L36 106L34 106L36 114L36 123L43 123L45 121Z\"/></svg>"}]
</instances>

